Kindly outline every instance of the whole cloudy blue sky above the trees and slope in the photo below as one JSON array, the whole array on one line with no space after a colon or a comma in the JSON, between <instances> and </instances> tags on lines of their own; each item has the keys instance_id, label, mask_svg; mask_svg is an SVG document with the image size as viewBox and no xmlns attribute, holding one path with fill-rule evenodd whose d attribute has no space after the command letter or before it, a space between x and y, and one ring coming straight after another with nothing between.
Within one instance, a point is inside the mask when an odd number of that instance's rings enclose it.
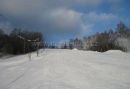
<instances>
[{"instance_id":1,"label":"whole cloudy blue sky above the trees and slope","mask_svg":"<svg viewBox=\"0 0 130 89\"><path fill-rule=\"evenodd\" d=\"M130 26L130 0L0 0L0 28L40 31L49 42L62 42Z\"/></svg>"}]
</instances>

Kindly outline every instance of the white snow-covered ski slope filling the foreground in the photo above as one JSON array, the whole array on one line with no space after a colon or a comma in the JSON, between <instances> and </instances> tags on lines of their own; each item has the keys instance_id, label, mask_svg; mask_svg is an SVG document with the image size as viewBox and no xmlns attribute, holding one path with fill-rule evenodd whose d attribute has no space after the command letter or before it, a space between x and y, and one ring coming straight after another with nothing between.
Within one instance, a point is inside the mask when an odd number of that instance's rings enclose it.
<instances>
[{"instance_id":1,"label":"white snow-covered ski slope filling the foreground","mask_svg":"<svg viewBox=\"0 0 130 89\"><path fill-rule=\"evenodd\" d=\"M0 60L0 89L130 89L130 54L46 49Z\"/></svg>"}]
</instances>

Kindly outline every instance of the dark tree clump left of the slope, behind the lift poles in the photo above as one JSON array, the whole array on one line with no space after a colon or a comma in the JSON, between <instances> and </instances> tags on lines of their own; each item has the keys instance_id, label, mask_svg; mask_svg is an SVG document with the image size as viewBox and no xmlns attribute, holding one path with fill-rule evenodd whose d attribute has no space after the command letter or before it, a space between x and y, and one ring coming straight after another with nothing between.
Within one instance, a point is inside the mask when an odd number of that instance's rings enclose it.
<instances>
[{"instance_id":1,"label":"dark tree clump left of the slope, behind the lift poles","mask_svg":"<svg viewBox=\"0 0 130 89\"><path fill-rule=\"evenodd\" d=\"M41 32L31 32L15 28L10 34L0 29L0 53L24 54L43 47Z\"/></svg>"}]
</instances>

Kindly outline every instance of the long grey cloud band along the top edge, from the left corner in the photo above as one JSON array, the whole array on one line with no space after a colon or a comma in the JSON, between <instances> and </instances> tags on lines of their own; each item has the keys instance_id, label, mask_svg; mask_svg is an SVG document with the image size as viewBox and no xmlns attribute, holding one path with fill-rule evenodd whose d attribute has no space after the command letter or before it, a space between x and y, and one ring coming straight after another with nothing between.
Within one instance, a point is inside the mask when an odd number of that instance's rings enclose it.
<instances>
[{"instance_id":1,"label":"long grey cloud band along the top edge, from the left corner","mask_svg":"<svg viewBox=\"0 0 130 89\"><path fill-rule=\"evenodd\" d=\"M78 5L95 6L102 0L0 0L0 11L15 16L35 16L54 8L71 8Z\"/></svg>"}]
</instances>

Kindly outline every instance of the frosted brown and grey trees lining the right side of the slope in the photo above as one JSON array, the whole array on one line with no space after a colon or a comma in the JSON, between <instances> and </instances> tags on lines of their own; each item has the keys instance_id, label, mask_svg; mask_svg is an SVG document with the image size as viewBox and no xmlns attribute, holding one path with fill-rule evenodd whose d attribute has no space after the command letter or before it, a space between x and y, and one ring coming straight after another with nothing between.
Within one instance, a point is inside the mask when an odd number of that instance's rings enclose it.
<instances>
[{"instance_id":1,"label":"frosted brown and grey trees lining the right side of the slope","mask_svg":"<svg viewBox=\"0 0 130 89\"><path fill-rule=\"evenodd\" d=\"M83 37L82 39L70 39L62 48L77 48L80 50L93 50L105 52L107 50L129 51L130 49L130 28L123 22L117 24L116 29L96 33Z\"/></svg>"}]
</instances>

